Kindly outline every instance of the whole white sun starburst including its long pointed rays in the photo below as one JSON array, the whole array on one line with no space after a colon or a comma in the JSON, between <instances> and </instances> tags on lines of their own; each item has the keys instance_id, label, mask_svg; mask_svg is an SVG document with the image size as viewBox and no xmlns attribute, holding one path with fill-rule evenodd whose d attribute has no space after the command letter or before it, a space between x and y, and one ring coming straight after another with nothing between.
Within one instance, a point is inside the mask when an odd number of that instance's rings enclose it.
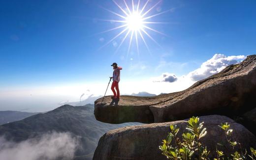
<instances>
[{"instance_id":1,"label":"whole white sun starburst including its long pointed rays","mask_svg":"<svg viewBox=\"0 0 256 160\"><path fill-rule=\"evenodd\" d=\"M108 12L116 15L119 19L117 20L102 20L102 21L110 21L112 23L120 23L121 25L118 27L114 27L108 30L105 30L103 32L100 33L105 33L105 32L109 32L112 30L116 30L116 29L120 29L120 28L124 28L122 31L120 31L117 35L115 35L112 39L110 39L105 45L103 45L101 48L107 46L108 44L110 44L111 42L113 42L115 39L117 39L120 36L123 36L121 42L119 43L116 52L119 50L119 48L122 46L122 44L124 43L124 41L126 39L128 39L129 43L128 43L128 52L127 52L127 56L128 53L130 51L130 47L131 47L131 43L133 40L135 40L136 42L136 48L137 48L137 53L139 56L139 42L138 39L140 38L144 45L146 46L147 50L149 51L149 53L151 54L148 44L146 42L146 37L148 37L149 39L151 39L153 42L155 42L158 46L160 46L158 44L158 42L150 35L150 32L157 32L160 33L162 35L162 32L153 29L151 27L149 27L149 24L166 24L164 22L153 22L153 21L149 21L151 20L153 17L159 16L163 13L169 12L171 11L171 9L157 13L157 14L153 14L153 15L149 15L150 12L152 12L153 8L155 8L162 0L159 0L157 3L155 3L153 6L150 6L149 9L146 10L146 6L149 6L149 1L147 0L143 5L140 3L140 0L137 0L137 3L134 3L134 0L131 0L131 6L128 6L126 0L124 0L124 5L126 6L125 8L121 7L115 0L112 0L117 6L118 8L122 11L123 14L120 13L116 13L114 11L111 11L109 9L106 9L104 7L102 7L103 9L107 10ZM166 36L166 35L165 35ZM100 49L101 49L100 48Z\"/></svg>"}]
</instances>

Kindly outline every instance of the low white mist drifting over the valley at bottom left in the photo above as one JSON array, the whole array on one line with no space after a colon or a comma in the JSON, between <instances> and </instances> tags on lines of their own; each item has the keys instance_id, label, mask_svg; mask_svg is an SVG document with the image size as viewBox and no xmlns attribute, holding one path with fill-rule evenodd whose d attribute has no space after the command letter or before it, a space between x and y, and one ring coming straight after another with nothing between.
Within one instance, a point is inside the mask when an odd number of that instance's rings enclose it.
<instances>
[{"instance_id":1,"label":"low white mist drifting over the valley at bottom left","mask_svg":"<svg viewBox=\"0 0 256 160\"><path fill-rule=\"evenodd\" d=\"M0 137L0 160L70 160L78 144L70 133L46 133L19 143Z\"/></svg>"}]
</instances>

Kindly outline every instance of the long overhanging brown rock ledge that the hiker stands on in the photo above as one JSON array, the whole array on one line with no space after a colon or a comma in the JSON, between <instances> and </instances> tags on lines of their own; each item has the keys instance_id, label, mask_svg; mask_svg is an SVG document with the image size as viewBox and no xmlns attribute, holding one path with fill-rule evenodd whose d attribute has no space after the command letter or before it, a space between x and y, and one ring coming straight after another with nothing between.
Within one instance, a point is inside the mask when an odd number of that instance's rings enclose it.
<instances>
[{"instance_id":1,"label":"long overhanging brown rock ledge that the hiker stands on","mask_svg":"<svg viewBox=\"0 0 256 160\"><path fill-rule=\"evenodd\" d=\"M235 117L256 108L256 55L180 92L154 97L121 96L116 106L111 101L110 96L103 102L102 98L95 101L98 121L160 123L193 115Z\"/></svg>"}]
</instances>

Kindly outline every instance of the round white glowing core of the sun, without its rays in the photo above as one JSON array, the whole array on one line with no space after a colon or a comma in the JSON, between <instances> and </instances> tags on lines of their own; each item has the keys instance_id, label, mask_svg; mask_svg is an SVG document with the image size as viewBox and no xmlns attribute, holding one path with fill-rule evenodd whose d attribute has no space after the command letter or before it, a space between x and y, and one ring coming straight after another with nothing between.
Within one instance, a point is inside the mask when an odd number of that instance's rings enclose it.
<instances>
[{"instance_id":1,"label":"round white glowing core of the sun, without its rays","mask_svg":"<svg viewBox=\"0 0 256 160\"><path fill-rule=\"evenodd\" d=\"M143 28L142 16L136 11L126 17L126 23L129 30L132 31L138 31Z\"/></svg>"}]
</instances>

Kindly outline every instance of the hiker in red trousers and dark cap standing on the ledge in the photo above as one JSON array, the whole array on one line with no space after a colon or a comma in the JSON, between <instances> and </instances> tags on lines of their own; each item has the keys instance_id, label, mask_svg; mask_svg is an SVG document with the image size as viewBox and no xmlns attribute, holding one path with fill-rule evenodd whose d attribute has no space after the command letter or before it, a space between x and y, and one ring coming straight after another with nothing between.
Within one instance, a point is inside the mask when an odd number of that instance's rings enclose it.
<instances>
[{"instance_id":1,"label":"hiker in red trousers and dark cap standing on the ledge","mask_svg":"<svg viewBox=\"0 0 256 160\"><path fill-rule=\"evenodd\" d=\"M122 67L118 67L117 63L113 63L111 66L113 66L113 69L114 69L113 77L111 77L113 79L111 90L113 91L114 96L111 96L111 98L119 100L120 92L119 92L118 83L120 81L120 70L122 70ZM116 91L114 88L116 88Z\"/></svg>"}]
</instances>

